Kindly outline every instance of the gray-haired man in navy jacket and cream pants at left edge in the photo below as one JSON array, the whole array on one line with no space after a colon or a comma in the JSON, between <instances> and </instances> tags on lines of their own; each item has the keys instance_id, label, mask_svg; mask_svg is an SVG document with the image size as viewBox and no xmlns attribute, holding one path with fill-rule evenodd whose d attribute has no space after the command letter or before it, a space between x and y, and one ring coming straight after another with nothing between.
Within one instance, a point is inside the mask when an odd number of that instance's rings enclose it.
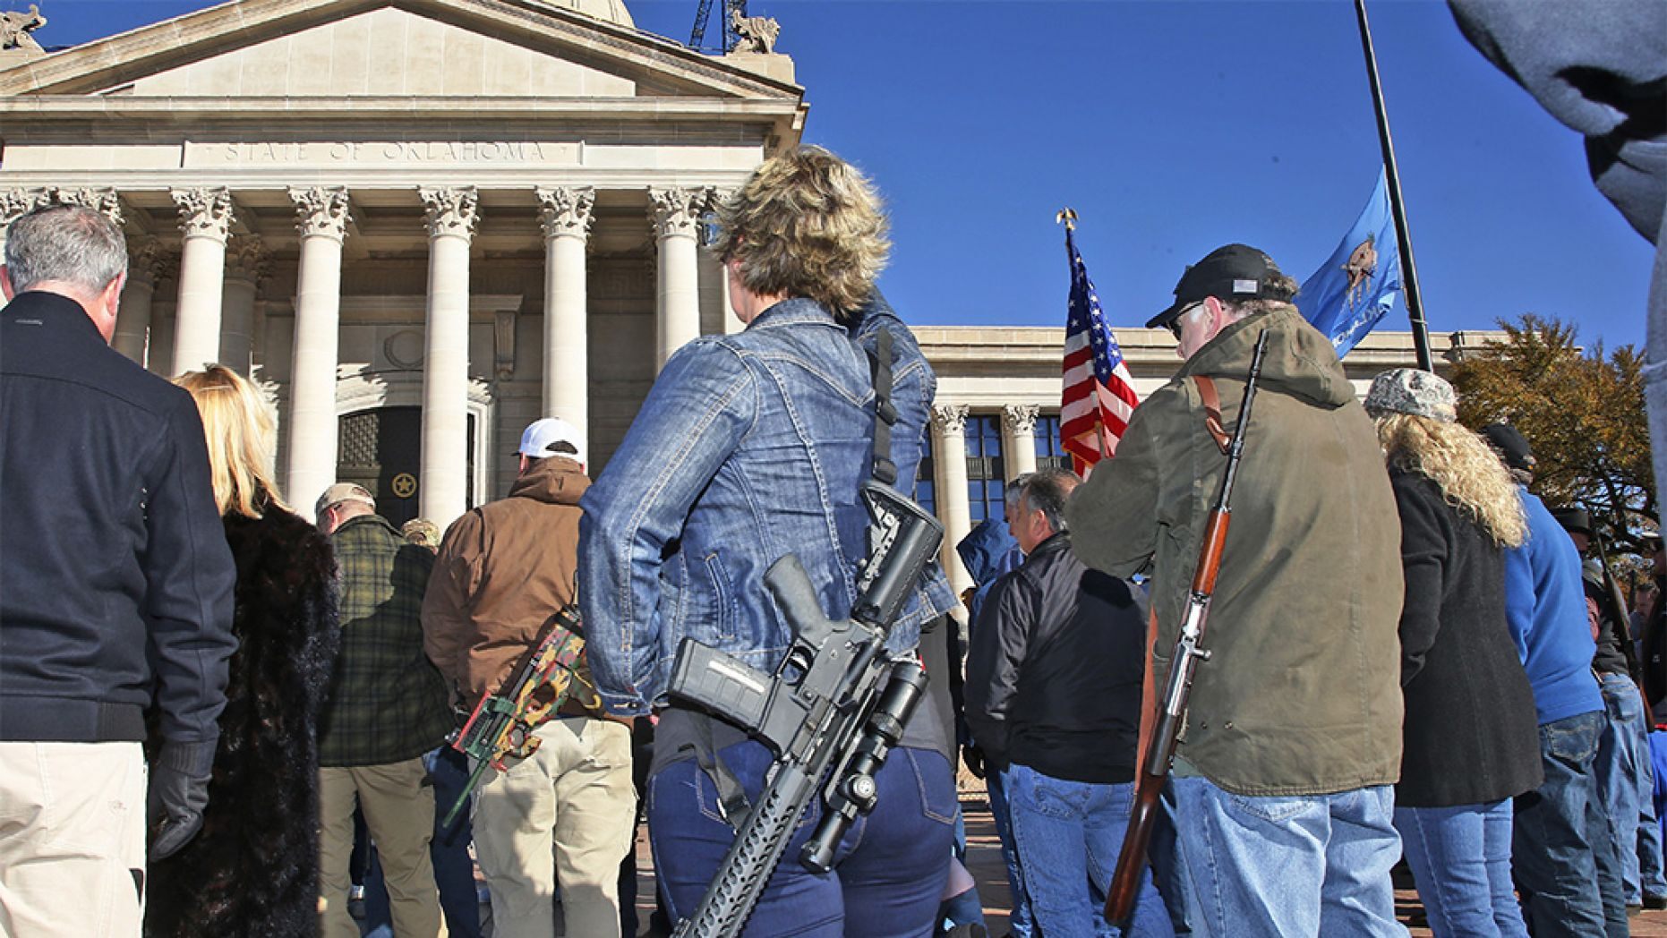
<instances>
[{"instance_id":1,"label":"gray-haired man in navy jacket and cream pants at left edge","mask_svg":"<svg viewBox=\"0 0 1667 938\"><path fill-rule=\"evenodd\" d=\"M237 576L188 393L108 345L122 232L53 205L0 292L0 931L140 930L147 866L202 826ZM145 710L158 713L148 768ZM65 896L75 896L65 901Z\"/></svg>"}]
</instances>

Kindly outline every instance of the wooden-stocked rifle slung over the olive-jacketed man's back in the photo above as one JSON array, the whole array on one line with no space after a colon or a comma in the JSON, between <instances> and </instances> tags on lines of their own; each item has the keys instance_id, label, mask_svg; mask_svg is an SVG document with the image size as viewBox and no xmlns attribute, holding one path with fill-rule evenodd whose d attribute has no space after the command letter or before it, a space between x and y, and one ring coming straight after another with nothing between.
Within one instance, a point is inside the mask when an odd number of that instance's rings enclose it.
<instances>
[{"instance_id":1,"label":"wooden-stocked rifle slung over the olive-jacketed man's back","mask_svg":"<svg viewBox=\"0 0 1667 938\"><path fill-rule=\"evenodd\" d=\"M1119 928L1129 923L1140 890L1140 870L1145 866L1147 845L1152 841L1152 823L1157 820L1157 801L1164 793L1164 780L1175 760L1175 738L1187 718L1187 698L1192 695L1192 675L1199 661L1209 661L1210 653L1199 648L1204 625L1210 616L1210 598L1215 595L1215 575L1222 568L1222 546L1227 543L1227 523L1232 520L1229 500L1234 480L1239 478L1239 458L1245 448L1245 430L1250 427L1250 405L1255 402L1255 383L1262 377L1262 353L1267 350L1267 332L1257 337L1250 357L1250 377L1245 380L1244 403L1239 407L1239 427L1227 447L1227 468L1222 471L1222 488L1215 508L1204 526L1204 545L1199 548L1199 566L1192 571L1192 590L1187 595L1187 611L1180 620L1175 650L1169 658L1169 680L1159 701L1157 728L1147 748L1145 765L1135 780L1134 811L1129 830L1124 831L1124 848L1117 855L1112 873L1112 890L1105 896L1105 920Z\"/></svg>"}]
</instances>

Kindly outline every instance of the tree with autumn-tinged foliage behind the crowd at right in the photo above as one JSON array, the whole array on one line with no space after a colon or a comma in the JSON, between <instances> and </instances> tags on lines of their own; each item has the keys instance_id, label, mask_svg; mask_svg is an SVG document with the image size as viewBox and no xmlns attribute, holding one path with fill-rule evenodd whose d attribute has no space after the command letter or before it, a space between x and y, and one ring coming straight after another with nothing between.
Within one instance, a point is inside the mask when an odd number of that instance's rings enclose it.
<instances>
[{"instance_id":1,"label":"tree with autumn-tinged foliage behind the crowd at right","mask_svg":"<svg viewBox=\"0 0 1667 938\"><path fill-rule=\"evenodd\" d=\"M1582 350L1572 325L1534 313L1499 325L1502 345L1454 367L1459 422L1514 423L1534 447L1534 493L1554 508L1580 505L1612 553L1637 555L1657 516L1644 355Z\"/></svg>"}]
</instances>

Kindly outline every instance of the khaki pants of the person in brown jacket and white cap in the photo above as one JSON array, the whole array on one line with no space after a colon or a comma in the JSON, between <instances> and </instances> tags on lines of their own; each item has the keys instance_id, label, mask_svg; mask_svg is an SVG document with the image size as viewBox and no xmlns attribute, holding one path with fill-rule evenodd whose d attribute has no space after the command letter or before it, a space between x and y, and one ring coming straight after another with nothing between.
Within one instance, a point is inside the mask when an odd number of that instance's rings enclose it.
<instances>
[{"instance_id":1,"label":"khaki pants of the person in brown jacket and white cap","mask_svg":"<svg viewBox=\"0 0 1667 938\"><path fill-rule=\"evenodd\" d=\"M538 751L475 793L475 855L492 888L495 938L565 933L618 938L620 861L637 833L630 730L563 716L538 728ZM553 846L553 851L552 851Z\"/></svg>"}]
</instances>

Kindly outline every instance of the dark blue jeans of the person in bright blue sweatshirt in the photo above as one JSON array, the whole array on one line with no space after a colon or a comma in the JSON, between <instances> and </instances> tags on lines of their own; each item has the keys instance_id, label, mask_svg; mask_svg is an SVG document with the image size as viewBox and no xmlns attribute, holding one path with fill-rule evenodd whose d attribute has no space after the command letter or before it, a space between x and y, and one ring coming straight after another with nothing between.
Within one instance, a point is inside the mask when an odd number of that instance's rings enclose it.
<instances>
[{"instance_id":1,"label":"dark blue jeans of the person in bright blue sweatshirt","mask_svg":"<svg viewBox=\"0 0 1667 938\"><path fill-rule=\"evenodd\" d=\"M1605 935L1604 896L1587 831L1604 833L1592 761L1599 711L1540 726L1545 783L1517 796L1510 866L1535 938ZM1622 913L1622 925L1625 913Z\"/></svg>"}]
</instances>

